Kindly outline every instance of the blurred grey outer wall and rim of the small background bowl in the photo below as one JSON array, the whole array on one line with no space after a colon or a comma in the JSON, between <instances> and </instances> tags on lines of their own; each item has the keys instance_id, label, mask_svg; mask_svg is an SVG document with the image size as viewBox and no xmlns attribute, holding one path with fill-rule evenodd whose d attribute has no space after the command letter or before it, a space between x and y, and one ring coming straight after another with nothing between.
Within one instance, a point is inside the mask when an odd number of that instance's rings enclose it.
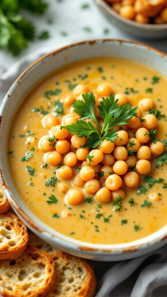
<instances>
[{"instance_id":1,"label":"blurred grey outer wall and rim of the small background bowl","mask_svg":"<svg viewBox=\"0 0 167 297\"><path fill-rule=\"evenodd\" d=\"M160 39L167 36L167 24L142 24L123 18L105 0L94 0L103 15L117 28L142 39Z\"/></svg>"}]
</instances>

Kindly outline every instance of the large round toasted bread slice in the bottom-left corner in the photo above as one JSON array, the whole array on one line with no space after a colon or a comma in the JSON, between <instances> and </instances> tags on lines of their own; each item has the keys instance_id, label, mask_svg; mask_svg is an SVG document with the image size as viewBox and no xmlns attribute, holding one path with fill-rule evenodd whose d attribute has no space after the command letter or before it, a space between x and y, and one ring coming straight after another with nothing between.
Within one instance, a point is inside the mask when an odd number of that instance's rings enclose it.
<instances>
[{"instance_id":1,"label":"large round toasted bread slice in the bottom-left corner","mask_svg":"<svg viewBox=\"0 0 167 297\"><path fill-rule=\"evenodd\" d=\"M54 282L52 257L35 247L28 245L15 260L0 260L2 297L45 297Z\"/></svg>"}]
</instances>

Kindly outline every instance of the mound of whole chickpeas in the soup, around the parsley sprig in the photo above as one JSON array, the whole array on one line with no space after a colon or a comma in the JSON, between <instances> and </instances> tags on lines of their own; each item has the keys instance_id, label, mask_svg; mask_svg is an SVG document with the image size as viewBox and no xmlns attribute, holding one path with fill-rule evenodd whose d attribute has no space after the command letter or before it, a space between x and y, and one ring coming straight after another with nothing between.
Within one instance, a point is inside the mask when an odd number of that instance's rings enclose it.
<instances>
[{"instance_id":1,"label":"mound of whole chickpeas in the soup, around the parsley sprig","mask_svg":"<svg viewBox=\"0 0 167 297\"><path fill-rule=\"evenodd\" d=\"M77 85L73 95L65 95L61 99L64 107L70 107L75 100L83 100L82 94L85 92L90 92L86 85ZM96 90L94 113L101 127L104 121L97 106L102 97L111 93L113 94L113 91L107 83L99 85ZM128 103L128 98L123 93L115 94L115 99L118 99L119 106ZM153 143L149 138L149 131L157 125L155 115L146 113L149 108L155 108L152 99L140 100L138 117L133 116L127 125L113 127L118 134L116 140L103 140L91 151L86 146L81 147L86 145L85 137L78 138L77 134L70 134L66 128L60 129L62 125L70 125L80 119L73 107L70 114L62 118L62 123L53 114L42 119L43 126L55 137L52 143L56 142L56 145L53 147L48 141L48 136L44 136L39 142L39 147L45 152L44 159L50 166L58 167L62 162L62 166L57 169L57 176L61 179L58 188L60 192L66 193L67 203L78 205L88 195L93 195L100 203L107 203L119 196L124 200L125 189L136 188L139 185L139 176L150 173L150 159L152 156L161 155L164 145L160 141ZM145 119L142 122L141 113ZM94 121L89 121L99 129ZM134 150L132 156L128 155L128 150ZM131 167L137 170L132 171ZM68 190L65 181L71 181L71 189Z\"/></svg>"}]
</instances>

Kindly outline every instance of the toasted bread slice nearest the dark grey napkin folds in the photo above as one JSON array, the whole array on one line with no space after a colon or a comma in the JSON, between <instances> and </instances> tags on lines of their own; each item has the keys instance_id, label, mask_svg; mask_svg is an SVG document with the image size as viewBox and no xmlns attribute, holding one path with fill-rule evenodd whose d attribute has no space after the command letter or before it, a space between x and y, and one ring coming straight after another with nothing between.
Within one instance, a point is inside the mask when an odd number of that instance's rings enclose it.
<instances>
[{"instance_id":1,"label":"toasted bread slice nearest the dark grey napkin folds","mask_svg":"<svg viewBox=\"0 0 167 297\"><path fill-rule=\"evenodd\" d=\"M56 281L46 297L93 297L96 277L87 260L55 250L52 252Z\"/></svg>"}]
</instances>

